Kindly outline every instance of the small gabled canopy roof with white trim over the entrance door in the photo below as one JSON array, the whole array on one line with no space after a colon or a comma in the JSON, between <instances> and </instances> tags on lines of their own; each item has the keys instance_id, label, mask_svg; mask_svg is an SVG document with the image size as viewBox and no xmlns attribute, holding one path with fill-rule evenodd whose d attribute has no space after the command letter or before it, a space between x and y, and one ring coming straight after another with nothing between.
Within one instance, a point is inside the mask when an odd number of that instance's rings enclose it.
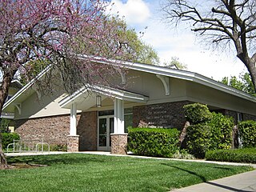
<instances>
[{"instance_id":1,"label":"small gabled canopy roof with white trim over the entrance door","mask_svg":"<svg viewBox=\"0 0 256 192\"><path fill-rule=\"evenodd\" d=\"M127 90L119 90L109 86L84 86L70 96L58 102L62 108L70 109L72 103L77 103L78 110L88 110L95 106L96 96L101 95L102 99L117 98L123 101L146 103L148 97L142 94L134 94Z\"/></svg>"}]
</instances>

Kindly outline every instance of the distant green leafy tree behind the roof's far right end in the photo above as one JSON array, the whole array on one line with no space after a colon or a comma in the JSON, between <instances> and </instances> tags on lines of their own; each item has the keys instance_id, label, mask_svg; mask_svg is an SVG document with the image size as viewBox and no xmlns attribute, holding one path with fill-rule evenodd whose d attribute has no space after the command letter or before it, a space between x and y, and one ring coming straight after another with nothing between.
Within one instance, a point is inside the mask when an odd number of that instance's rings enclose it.
<instances>
[{"instance_id":1,"label":"distant green leafy tree behind the roof's far right end","mask_svg":"<svg viewBox=\"0 0 256 192\"><path fill-rule=\"evenodd\" d=\"M239 75L239 78L235 76L231 76L230 78L225 77L225 78L222 78L221 82L227 86L232 86L235 89L242 90L246 94L256 96L255 90L254 90L254 84L251 81L250 74L248 73L244 73L244 74L241 73Z\"/></svg>"}]
</instances>

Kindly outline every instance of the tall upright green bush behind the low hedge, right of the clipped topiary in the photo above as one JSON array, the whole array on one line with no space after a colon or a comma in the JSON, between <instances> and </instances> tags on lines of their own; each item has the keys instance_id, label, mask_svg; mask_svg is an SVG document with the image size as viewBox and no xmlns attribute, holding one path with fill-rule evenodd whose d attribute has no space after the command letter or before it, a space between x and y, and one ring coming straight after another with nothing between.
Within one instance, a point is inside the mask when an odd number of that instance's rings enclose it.
<instances>
[{"instance_id":1,"label":"tall upright green bush behind the low hedge, right of the clipped topiary","mask_svg":"<svg viewBox=\"0 0 256 192\"><path fill-rule=\"evenodd\" d=\"M212 113L213 118L207 123L210 126L210 150L230 149L232 144L233 118L223 114Z\"/></svg>"}]
</instances>

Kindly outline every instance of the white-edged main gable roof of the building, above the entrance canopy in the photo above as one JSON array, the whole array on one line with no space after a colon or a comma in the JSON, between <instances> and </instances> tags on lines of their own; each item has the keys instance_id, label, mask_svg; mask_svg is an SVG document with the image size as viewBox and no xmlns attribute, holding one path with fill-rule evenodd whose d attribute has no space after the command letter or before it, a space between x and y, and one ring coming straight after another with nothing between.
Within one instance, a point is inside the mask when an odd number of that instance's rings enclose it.
<instances>
[{"instance_id":1,"label":"white-edged main gable roof of the building, above the entrance canopy","mask_svg":"<svg viewBox=\"0 0 256 192\"><path fill-rule=\"evenodd\" d=\"M78 58L89 59L91 62L102 63L102 64L106 64L106 65L125 67L126 69L130 69L130 70L138 70L138 71L142 71L142 72L146 72L146 73L150 73L150 74L158 74L158 75L163 75L163 76L170 77L170 78L179 78L179 79L183 79L183 80L190 81L190 82L196 82L196 83L202 84L204 86L214 88L215 90L221 90L222 92L225 92L227 94L232 94L239 98L244 98L251 102L256 102L256 98L254 96L251 96L250 94L246 94L246 93L242 92L241 90L234 89L231 86L226 86L225 84L223 84L221 82L217 82L214 79L207 78L201 74L197 74L197 73L186 71L186 70L176 70L176 69L170 69L170 68L167 68L164 66L154 66L154 65L143 64L143 63L138 63L138 62L127 62L127 61L122 61L122 60L108 59L108 58L95 57L95 56L87 56L87 55L78 55ZM34 78L31 82L26 84L26 86L23 86L23 88L21 90L19 90L16 94L14 94L14 97L10 98L10 100L4 104L2 110L8 110L8 108L10 108L11 103L23 102L28 96L33 94L34 91L31 90L30 88L34 85L34 83L39 78L42 78L43 75L46 74L48 70L50 70L50 66L46 67L45 70L42 70L42 72L40 74L38 74L38 76L36 78ZM110 87L109 87L109 89L110 89ZM31 90L31 91L28 93L28 90ZM78 92L75 92L75 93L78 94ZM72 97L75 96L74 94L72 94L73 95ZM8 110L8 112L9 112L9 110Z\"/></svg>"}]
</instances>

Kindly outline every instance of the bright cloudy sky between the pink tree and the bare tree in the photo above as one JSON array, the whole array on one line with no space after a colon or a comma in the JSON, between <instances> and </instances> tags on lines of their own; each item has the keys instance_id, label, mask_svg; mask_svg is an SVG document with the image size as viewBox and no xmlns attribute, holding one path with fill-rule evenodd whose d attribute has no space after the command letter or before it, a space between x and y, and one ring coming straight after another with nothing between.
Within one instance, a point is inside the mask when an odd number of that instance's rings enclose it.
<instances>
[{"instance_id":1,"label":"bright cloudy sky between the pink tree and the bare tree","mask_svg":"<svg viewBox=\"0 0 256 192\"><path fill-rule=\"evenodd\" d=\"M153 46L162 63L176 57L188 70L217 81L246 71L234 51L213 50L204 46L188 26L175 28L166 24L160 9L163 1L112 0L110 13L124 16L127 25L138 33L145 32L142 41Z\"/></svg>"}]
</instances>

